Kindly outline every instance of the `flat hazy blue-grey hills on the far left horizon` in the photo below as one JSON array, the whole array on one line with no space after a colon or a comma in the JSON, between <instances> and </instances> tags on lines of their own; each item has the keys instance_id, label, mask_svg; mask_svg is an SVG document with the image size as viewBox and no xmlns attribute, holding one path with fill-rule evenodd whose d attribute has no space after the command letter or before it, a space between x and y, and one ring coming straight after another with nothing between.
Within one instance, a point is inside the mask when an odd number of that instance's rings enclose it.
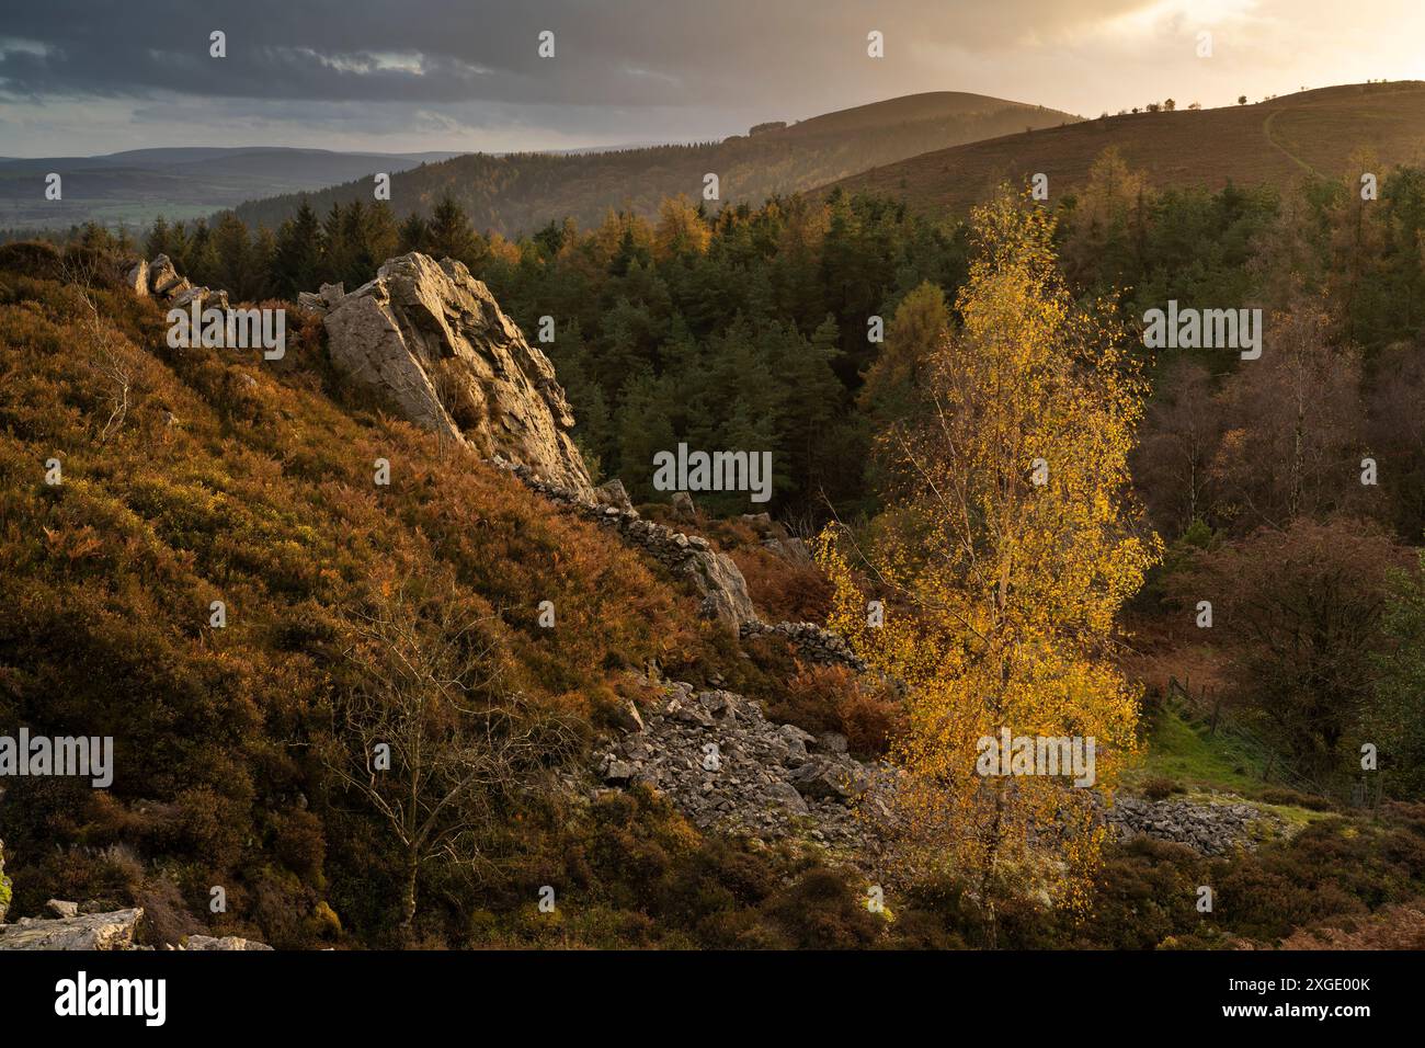
<instances>
[{"instance_id":1,"label":"flat hazy blue-grey hills on the far left horizon","mask_svg":"<svg viewBox=\"0 0 1425 1048\"><path fill-rule=\"evenodd\" d=\"M0 227L64 228L76 222L147 224L158 214L194 218L279 192L319 190L447 160L453 153L332 153L275 147L130 150L103 157L0 160ZM64 197L44 198L44 177Z\"/></svg>"}]
</instances>

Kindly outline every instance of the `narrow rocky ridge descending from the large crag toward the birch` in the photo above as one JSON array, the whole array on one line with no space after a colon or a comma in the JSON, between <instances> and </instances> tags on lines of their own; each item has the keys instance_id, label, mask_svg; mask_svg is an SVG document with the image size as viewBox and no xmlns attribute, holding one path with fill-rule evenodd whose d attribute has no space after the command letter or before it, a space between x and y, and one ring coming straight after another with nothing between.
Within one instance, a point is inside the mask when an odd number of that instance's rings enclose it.
<instances>
[{"instance_id":1,"label":"narrow rocky ridge descending from the large crag toward the birch","mask_svg":"<svg viewBox=\"0 0 1425 1048\"><path fill-rule=\"evenodd\" d=\"M732 563L732 558L712 549L712 545L701 536L644 520L628 503L621 483L617 489L604 485L600 489L601 496L587 498L569 488L540 481L520 463L497 459L496 465L509 469L532 490L551 502L571 506L581 516L614 529L624 543L653 558L674 576L691 582L703 597L701 612L707 617L720 619L732 627L757 622L752 597L747 593L747 580Z\"/></svg>"}]
</instances>

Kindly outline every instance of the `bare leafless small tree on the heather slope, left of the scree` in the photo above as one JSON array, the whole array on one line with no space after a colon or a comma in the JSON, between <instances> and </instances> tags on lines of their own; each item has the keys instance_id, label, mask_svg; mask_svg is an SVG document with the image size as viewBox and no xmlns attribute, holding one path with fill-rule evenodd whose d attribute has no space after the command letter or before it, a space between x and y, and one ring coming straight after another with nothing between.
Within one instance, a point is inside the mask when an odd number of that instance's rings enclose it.
<instances>
[{"instance_id":1,"label":"bare leafless small tree on the heather slope, left of the scree","mask_svg":"<svg viewBox=\"0 0 1425 1048\"><path fill-rule=\"evenodd\" d=\"M502 814L576 746L571 723L500 686L482 620L453 592L425 599L409 579L345 617L351 687L333 703L328 766L362 797L405 857L402 927L422 870L447 863L479 878ZM389 766L386 759L389 757Z\"/></svg>"}]
</instances>

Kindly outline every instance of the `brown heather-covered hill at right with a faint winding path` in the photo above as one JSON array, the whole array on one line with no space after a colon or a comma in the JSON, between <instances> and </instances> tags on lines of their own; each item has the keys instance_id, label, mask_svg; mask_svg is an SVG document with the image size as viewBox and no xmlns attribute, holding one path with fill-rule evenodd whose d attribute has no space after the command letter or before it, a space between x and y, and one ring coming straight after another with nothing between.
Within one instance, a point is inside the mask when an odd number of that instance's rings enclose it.
<instances>
[{"instance_id":1,"label":"brown heather-covered hill at right with a faint winding path","mask_svg":"<svg viewBox=\"0 0 1425 1048\"><path fill-rule=\"evenodd\" d=\"M966 211L1000 181L1049 175L1073 191L1094 158L1117 145L1157 187L1284 184L1304 173L1340 175L1358 147L1389 167L1425 158L1425 81L1347 84L1251 106L1139 113L1003 135L876 165L836 180L841 188L895 195L921 211Z\"/></svg>"}]
</instances>

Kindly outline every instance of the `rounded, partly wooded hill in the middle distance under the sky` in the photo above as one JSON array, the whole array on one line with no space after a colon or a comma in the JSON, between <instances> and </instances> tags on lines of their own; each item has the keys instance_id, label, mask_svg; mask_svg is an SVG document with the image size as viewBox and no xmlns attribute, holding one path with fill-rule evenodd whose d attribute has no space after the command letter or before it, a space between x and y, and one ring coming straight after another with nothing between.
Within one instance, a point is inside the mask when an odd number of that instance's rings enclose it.
<instances>
[{"instance_id":1,"label":"rounded, partly wooded hill in the middle distance under the sky","mask_svg":"<svg viewBox=\"0 0 1425 1048\"><path fill-rule=\"evenodd\" d=\"M480 230L527 232L566 215L587 227L611 207L653 215L664 197L685 192L697 200L707 173L718 175L722 201L758 204L775 192L809 190L872 164L1076 120L1080 117L1040 106L936 91L829 113L788 127L774 125L720 143L576 155L456 157L393 178L392 205L400 215L429 211L449 192ZM370 183L362 180L335 187L311 194L309 200L318 211L333 201L369 201ZM238 215L249 224L276 225L299 204L299 195L278 197L245 204Z\"/></svg>"}]
</instances>

